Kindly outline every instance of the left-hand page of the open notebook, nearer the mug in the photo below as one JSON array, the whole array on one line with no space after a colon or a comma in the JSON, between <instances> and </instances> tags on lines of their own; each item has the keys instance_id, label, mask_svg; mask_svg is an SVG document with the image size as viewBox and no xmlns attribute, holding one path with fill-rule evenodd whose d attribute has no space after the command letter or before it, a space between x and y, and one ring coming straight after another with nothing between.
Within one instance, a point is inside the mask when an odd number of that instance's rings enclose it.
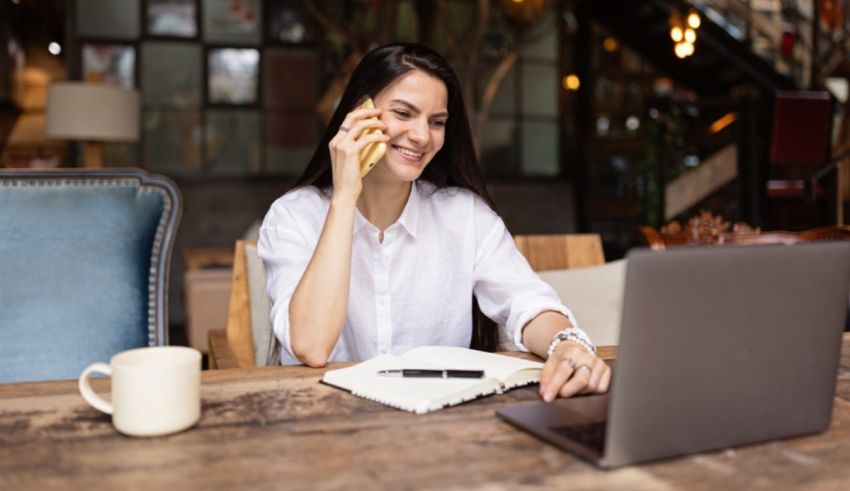
<instances>
[{"instance_id":1,"label":"left-hand page of the open notebook, nearer the mug","mask_svg":"<svg viewBox=\"0 0 850 491\"><path fill-rule=\"evenodd\" d=\"M403 368L444 367L394 355L378 355L351 367L328 370L322 381L356 396L420 414L491 394L496 389L491 382L482 379L401 378L377 374L379 370Z\"/></svg>"}]
</instances>

